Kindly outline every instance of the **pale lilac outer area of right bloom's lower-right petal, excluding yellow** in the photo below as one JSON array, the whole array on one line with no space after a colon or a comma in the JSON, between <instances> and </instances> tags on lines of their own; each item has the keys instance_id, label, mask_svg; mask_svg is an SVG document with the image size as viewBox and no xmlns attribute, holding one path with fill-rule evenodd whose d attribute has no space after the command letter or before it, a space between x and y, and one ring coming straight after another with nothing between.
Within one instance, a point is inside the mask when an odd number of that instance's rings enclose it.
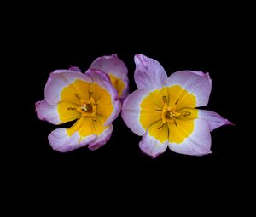
<instances>
[{"instance_id":1,"label":"pale lilac outer area of right bloom's lower-right petal, excluding yellow","mask_svg":"<svg viewBox=\"0 0 256 217\"><path fill-rule=\"evenodd\" d=\"M186 134L182 128L179 129L179 133ZM193 133L181 143L169 143L169 148L174 152L185 155L201 156L212 153L210 150L211 134L209 124L203 119L195 119Z\"/></svg>"}]
</instances>

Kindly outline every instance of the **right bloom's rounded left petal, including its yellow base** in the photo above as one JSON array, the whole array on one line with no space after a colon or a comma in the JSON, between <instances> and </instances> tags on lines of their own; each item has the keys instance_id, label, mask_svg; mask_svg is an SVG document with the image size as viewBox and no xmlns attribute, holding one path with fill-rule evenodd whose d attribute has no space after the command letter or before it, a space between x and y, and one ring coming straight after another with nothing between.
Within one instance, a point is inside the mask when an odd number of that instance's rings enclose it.
<instances>
[{"instance_id":1,"label":"right bloom's rounded left petal, including its yellow base","mask_svg":"<svg viewBox=\"0 0 256 217\"><path fill-rule=\"evenodd\" d=\"M144 101L144 99L146 100ZM143 106L141 106L142 103ZM161 113L155 111L156 109L160 109L160 107L154 104L150 89L137 89L129 94L123 102L121 115L133 133L143 135L152 123L161 118ZM143 122L141 122L141 117L143 117Z\"/></svg>"}]
</instances>

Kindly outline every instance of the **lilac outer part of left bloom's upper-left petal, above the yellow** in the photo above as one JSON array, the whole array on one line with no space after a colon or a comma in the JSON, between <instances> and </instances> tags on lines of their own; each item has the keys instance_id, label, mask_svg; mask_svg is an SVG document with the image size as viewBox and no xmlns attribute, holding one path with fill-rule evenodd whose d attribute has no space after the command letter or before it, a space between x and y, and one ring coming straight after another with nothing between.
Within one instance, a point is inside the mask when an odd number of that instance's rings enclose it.
<instances>
[{"instance_id":1,"label":"lilac outer part of left bloom's upper-left petal, above the yellow","mask_svg":"<svg viewBox=\"0 0 256 217\"><path fill-rule=\"evenodd\" d=\"M91 78L76 71L56 70L52 72L45 85L45 100L52 106L61 100L61 91L76 80L91 82Z\"/></svg>"}]
</instances>

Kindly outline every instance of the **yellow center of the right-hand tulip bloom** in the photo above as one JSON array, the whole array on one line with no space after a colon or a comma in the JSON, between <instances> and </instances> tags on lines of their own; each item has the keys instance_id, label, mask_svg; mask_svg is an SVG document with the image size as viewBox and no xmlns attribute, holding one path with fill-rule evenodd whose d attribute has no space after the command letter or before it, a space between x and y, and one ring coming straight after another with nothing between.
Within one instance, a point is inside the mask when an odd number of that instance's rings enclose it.
<instances>
[{"instance_id":1,"label":"yellow center of the right-hand tulip bloom","mask_svg":"<svg viewBox=\"0 0 256 217\"><path fill-rule=\"evenodd\" d=\"M140 123L154 139L179 144L194 130L195 102L195 96L179 85L155 89L140 104Z\"/></svg>"}]
</instances>

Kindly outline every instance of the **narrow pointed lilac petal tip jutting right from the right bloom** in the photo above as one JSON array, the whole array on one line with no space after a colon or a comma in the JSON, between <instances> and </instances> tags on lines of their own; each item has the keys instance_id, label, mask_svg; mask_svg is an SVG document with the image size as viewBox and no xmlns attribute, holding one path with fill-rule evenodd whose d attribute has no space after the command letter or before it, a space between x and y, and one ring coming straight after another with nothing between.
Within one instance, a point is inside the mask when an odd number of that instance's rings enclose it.
<instances>
[{"instance_id":1,"label":"narrow pointed lilac petal tip jutting right from the right bloom","mask_svg":"<svg viewBox=\"0 0 256 217\"><path fill-rule=\"evenodd\" d=\"M198 115L200 118L204 119L209 123L210 130L212 131L215 128L219 128L223 125L234 125L233 123L230 123L228 119L224 119L221 117L218 113L214 111L207 111L207 110L198 110Z\"/></svg>"}]
</instances>

